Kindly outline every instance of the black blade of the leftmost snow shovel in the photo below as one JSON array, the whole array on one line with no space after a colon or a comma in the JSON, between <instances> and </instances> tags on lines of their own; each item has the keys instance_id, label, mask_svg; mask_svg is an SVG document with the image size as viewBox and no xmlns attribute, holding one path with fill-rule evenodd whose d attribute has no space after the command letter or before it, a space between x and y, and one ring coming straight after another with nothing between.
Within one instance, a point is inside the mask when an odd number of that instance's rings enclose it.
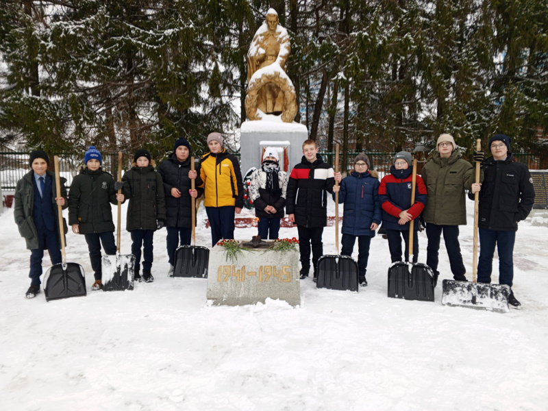
<instances>
[{"instance_id":1,"label":"black blade of the leftmost snow shovel","mask_svg":"<svg viewBox=\"0 0 548 411\"><path fill-rule=\"evenodd\" d=\"M80 264L55 264L44 277L46 301L86 295L86 278Z\"/></svg>"}]
</instances>

